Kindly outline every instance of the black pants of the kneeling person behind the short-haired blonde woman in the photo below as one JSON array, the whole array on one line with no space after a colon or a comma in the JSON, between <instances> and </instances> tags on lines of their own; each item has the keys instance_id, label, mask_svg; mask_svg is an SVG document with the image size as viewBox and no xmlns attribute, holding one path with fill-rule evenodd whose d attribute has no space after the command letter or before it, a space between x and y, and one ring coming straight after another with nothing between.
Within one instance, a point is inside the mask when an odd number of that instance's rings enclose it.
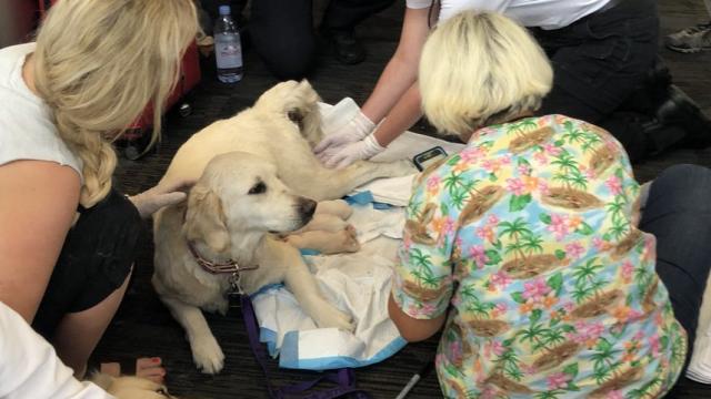
<instances>
[{"instance_id":1,"label":"black pants of the kneeling person behind the short-haired blonde woman","mask_svg":"<svg viewBox=\"0 0 711 399\"><path fill-rule=\"evenodd\" d=\"M553 89L540 114L594 123L610 131L632 161L643 157L651 145L642 129L650 120L644 111L651 112L653 104L638 102L634 110L625 105L643 90L657 60L657 1L621 0L563 29L533 32L554 70Z\"/></svg>"}]
</instances>

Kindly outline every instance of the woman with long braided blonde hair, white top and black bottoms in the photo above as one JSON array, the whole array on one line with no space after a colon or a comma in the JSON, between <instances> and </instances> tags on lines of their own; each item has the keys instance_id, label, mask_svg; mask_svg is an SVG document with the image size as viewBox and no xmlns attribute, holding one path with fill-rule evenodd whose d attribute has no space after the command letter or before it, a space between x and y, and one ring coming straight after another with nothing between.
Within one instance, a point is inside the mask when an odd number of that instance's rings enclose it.
<instances>
[{"instance_id":1,"label":"woman with long braided blonde hair, white top and black bottoms","mask_svg":"<svg viewBox=\"0 0 711 399\"><path fill-rule=\"evenodd\" d=\"M184 197L116 192L111 141L162 109L196 32L191 0L62 0L36 43L0 50L0 301L77 377L126 291L140 216ZM157 112L153 141L160 126Z\"/></svg>"}]
</instances>

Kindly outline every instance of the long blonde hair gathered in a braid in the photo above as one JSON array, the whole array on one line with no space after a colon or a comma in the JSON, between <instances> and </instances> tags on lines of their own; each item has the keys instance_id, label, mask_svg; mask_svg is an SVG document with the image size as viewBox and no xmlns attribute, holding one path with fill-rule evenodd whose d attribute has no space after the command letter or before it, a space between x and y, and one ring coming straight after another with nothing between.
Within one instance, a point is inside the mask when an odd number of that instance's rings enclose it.
<instances>
[{"instance_id":1,"label":"long blonde hair gathered in a braid","mask_svg":"<svg viewBox=\"0 0 711 399\"><path fill-rule=\"evenodd\" d=\"M83 163L80 203L111 188L111 141L153 110L151 144L176 86L180 61L198 31L192 0L61 0L37 38L34 85L60 137Z\"/></svg>"}]
</instances>

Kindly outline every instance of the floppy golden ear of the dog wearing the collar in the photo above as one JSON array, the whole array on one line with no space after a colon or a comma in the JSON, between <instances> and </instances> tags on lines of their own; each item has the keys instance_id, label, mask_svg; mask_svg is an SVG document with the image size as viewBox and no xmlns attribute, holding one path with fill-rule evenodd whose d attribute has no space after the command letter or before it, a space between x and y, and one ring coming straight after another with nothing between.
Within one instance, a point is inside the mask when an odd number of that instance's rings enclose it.
<instances>
[{"instance_id":1,"label":"floppy golden ear of the dog wearing the collar","mask_svg":"<svg viewBox=\"0 0 711 399\"><path fill-rule=\"evenodd\" d=\"M190 241L202 241L214 252L223 252L230 244L222 202L210 188L196 185L188 196L188 212L183 232Z\"/></svg>"}]
</instances>

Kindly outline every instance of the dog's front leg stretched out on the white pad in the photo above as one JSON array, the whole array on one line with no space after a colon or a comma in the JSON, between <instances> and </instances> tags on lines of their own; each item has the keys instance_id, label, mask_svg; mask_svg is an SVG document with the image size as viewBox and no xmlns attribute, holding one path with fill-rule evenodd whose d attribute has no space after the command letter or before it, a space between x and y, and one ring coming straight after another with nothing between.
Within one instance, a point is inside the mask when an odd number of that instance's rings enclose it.
<instances>
[{"instance_id":1,"label":"dog's front leg stretched out on the white pad","mask_svg":"<svg viewBox=\"0 0 711 399\"><path fill-rule=\"evenodd\" d=\"M352 318L326 300L321 288L303 262L299 250L291 245L274 239L268 239L267 252L270 267L282 267L284 283L299 301L303 311L321 328L336 327L352 331Z\"/></svg>"}]
</instances>

